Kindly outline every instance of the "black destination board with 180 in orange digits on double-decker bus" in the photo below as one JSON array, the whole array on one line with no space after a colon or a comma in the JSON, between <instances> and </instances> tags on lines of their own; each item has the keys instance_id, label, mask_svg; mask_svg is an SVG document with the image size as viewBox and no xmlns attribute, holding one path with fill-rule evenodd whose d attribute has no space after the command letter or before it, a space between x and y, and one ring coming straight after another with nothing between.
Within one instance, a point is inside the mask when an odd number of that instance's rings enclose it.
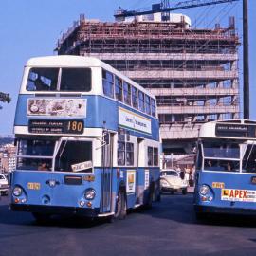
<instances>
[{"instance_id":1,"label":"black destination board with 180 in orange digits on double-decker bus","mask_svg":"<svg viewBox=\"0 0 256 256\"><path fill-rule=\"evenodd\" d=\"M33 134L82 134L83 120L30 119L28 132Z\"/></svg>"}]
</instances>

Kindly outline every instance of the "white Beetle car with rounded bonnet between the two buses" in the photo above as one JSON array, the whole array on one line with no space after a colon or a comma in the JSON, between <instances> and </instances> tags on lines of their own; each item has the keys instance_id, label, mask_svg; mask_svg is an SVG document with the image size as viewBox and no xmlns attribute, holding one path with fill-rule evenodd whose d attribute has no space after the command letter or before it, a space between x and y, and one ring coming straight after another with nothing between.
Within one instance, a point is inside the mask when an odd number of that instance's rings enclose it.
<instances>
[{"instance_id":1,"label":"white Beetle car with rounded bonnet between the two buses","mask_svg":"<svg viewBox=\"0 0 256 256\"><path fill-rule=\"evenodd\" d=\"M182 192L186 194L188 192L188 186L188 181L182 179L178 171L172 169L161 171L161 192Z\"/></svg>"}]
</instances>

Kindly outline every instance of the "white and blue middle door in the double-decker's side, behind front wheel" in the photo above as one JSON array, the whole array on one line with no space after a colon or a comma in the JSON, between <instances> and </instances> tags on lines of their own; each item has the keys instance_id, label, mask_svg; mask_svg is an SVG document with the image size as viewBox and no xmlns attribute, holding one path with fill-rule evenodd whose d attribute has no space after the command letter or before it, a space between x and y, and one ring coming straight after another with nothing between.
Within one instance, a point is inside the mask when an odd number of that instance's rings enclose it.
<instances>
[{"instance_id":1,"label":"white and blue middle door in the double-decker's side, behind front wheel","mask_svg":"<svg viewBox=\"0 0 256 256\"><path fill-rule=\"evenodd\" d=\"M137 183L136 183L136 204L143 204L144 188L146 184L146 174L149 171L145 170L145 140L137 138Z\"/></svg>"}]
</instances>

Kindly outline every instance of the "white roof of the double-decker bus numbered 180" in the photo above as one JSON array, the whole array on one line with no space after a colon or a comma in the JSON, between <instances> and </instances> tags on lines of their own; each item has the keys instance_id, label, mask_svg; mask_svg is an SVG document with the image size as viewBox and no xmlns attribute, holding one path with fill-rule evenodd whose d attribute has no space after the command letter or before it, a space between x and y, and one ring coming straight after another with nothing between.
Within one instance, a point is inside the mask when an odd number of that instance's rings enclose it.
<instances>
[{"instance_id":1,"label":"white roof of the double-decker bus numbered 180","mask_svg":"<svg viewBox=\"0 0 256 256\"><path fill-rule=\"evenodd\" d=\"M129 82L133 86L137 87L143 93L155 99L155 96L153 94L151 94L149 91L144 89L137 82L134 82L133 80L124 76L121 72L119 72L117 69L115 69L111 65L106 64L102 62L100 59L95 57L74 56L74 55L35 57L27 61L26 67L101 67L119 76L119 78L121 78L122 80Z\"/></svg>"}]
</instances>

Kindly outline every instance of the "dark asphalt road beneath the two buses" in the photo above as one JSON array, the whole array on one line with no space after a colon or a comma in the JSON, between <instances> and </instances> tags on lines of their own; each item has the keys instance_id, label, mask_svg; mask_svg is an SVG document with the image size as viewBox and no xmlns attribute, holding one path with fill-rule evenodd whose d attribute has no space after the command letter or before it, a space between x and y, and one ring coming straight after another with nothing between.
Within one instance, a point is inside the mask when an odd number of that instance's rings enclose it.
<instances>
[{"instance_id":1,"label":"dark asphalt road beneath the two buses","mask_svg":"<svg viewBox=\"0 0 256 256\"><path fill-rule=\"evenodd\" d=\"M192 194L164 195L152 210L115 223L56 219L36 224L30 213L0 201L0 255L256 255L256 218L195 220Z\"/></svg>"}]
</instances>

